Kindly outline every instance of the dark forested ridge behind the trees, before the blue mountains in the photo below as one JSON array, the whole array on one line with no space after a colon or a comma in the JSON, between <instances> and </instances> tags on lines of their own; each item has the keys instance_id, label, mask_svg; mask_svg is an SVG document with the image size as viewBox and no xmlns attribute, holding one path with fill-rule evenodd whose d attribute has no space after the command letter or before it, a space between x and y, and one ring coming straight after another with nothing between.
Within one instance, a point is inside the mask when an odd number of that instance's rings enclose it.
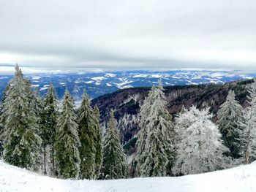
<instances>
[{"instance_id":1,"label":"dark forested ridge behind the trees, before the blue mountains","mask_svg":"<svg viewBox=\"0 0 256 192\"><path fill-rule=\"evenodd\" d=\"M167 98L167 110L173 118L180 112L181 107L195 106L210 107L214 115L217 114L219 106L225 102L227 93L234 90L236 99L243 107L246 107L247 87L252 80L239 80L226 82L225 84L202 84L202 85L173 85L165 87ZM92 104L99 107L103 127L107 122L110 110L114 110L115 118L118 122L118 129L121 134L121 141L134 147L135 142L131 140L139 131L140 104L148 94L150 88L127 88L99 96L92 100ZM213 120L216 120L214 116ZM127 147L127 150L130 150ZM133 150L133 149L132 149ZM132 153L132 151L131 151Z\"/></svg>"}]
</instances>

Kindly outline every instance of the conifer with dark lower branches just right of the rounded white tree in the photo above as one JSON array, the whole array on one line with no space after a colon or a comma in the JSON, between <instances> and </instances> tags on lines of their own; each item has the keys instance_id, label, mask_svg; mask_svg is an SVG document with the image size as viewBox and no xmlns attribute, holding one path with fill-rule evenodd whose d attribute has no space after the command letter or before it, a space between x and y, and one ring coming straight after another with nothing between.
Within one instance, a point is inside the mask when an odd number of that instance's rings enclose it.
<instances>
[{"instance_id":1,"label":"conifer with dark lower branches just right of the rounded white tree","mask_svg":"<svg viewBox=\"0 0 256 192\"><path fill-rule=\"evenodd\" d=\"M239 158L239 122L243 122L243 108L235 99L234 91L229 91L225 103L220 106L217 113L217 125L222 134L225 146L230 149L233 158Z\"/></svg>"}]
</instances>

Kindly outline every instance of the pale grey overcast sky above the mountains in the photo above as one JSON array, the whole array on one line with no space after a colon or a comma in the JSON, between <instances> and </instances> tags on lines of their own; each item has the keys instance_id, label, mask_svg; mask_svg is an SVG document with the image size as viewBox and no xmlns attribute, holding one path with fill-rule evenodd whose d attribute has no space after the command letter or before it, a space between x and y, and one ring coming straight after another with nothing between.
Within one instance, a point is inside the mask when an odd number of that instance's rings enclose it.
<instances>
[{"instance_id":1,"label":"pale grey overcast sky above the mountains","mask_svg":"<svg viewBox=\"0 0 256 192\"><path fill-rule=\"evenodd\" d=\"M0 73L256 72L255 0L0 0Z\"/></svg>"}]
</instances>

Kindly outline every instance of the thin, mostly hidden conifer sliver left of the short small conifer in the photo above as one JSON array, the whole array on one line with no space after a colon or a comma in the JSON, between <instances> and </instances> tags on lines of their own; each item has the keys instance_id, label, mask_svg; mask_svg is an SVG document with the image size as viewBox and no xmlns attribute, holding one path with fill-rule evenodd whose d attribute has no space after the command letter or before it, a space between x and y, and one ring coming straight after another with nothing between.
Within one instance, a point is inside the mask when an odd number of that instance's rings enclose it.
<instances>
[{"instance_id":1,"label":"thin, mostly hidden conifer sliver left of the short small conifer","mask_svg":"<svg viewBox=\"0 0 256 192\"><path fill-rule=\"evenodd\" d=\"M95 148L96 148L96 154L95 154L95 177L99 177L99 172L102 166L102 128L99 123L99 108L97 105L94 106L94 118L95 118Z\"/></svg>"}]
</instances>

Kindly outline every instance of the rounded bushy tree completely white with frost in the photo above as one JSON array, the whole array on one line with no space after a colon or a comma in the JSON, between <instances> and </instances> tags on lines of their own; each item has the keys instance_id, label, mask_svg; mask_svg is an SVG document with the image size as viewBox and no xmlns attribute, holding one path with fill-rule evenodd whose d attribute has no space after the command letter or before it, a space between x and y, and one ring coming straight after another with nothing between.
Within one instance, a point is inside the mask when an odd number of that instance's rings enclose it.
<instances>
[{"instance_id":1,"label":"rounded bushy tree completely white with frost","mask_svg":"<svg viewBox=\"0 0 256 192\"><path fill-rule=\"evenodd\" d=\"M192 106L176 118L177 156L173 172L199 174L225 168L228 149L222 144L217 126L211 122L209 108Z\"/></svg>"}]
</instances>

